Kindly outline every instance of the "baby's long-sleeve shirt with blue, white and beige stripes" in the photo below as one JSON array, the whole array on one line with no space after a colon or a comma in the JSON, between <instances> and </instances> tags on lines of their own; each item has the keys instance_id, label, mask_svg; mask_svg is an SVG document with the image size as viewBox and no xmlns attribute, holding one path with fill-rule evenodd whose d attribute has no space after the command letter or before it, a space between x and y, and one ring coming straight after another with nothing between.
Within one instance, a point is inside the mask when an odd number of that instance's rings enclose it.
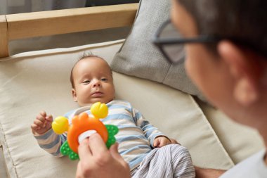
<instances>
[{"instance_id":1,"label":"baby's long-sleeve shirt with blue, white and beige stripes","mask_svg":"<svg viewBox=\"0 0 267 178\"><path fill-rule=\"evenodd\" d=\"M126 101L110 101L107 103L108 117L101 121L105 125L116 125L119 127L118 134L115 135L119 143L119 153L122 158L129 163L129 167L133 170L137 167L153 148L153 141L157 136L165 136L159 129L150 125L143 115ZM76 110L71 110L65 114L69 118L74 115L86 112L89 115L91 106L84 106ZM60 146L66 140L66 134L57 135L50 129L43 135L35 135L38 144L48 153L60 156Z\"/></svg>"}]
</instances>

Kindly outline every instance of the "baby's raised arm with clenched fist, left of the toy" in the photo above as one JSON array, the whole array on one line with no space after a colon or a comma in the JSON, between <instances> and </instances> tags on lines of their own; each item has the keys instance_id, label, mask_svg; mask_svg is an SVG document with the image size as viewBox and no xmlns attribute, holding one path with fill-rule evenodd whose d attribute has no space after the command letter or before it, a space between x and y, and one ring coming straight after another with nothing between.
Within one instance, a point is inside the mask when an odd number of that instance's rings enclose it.
<instances>
[{"instance_id":1,"label":"baby's raised arm with clenched fist, left of the toy","mask_svg":"<svg viewBox=\"0 0 267 178\"><path fill-rule=\"evenodd\" d=\"M46 115L41 111L37 115L36 120L32 124L32 133L41 148L55 156L61 156L60 146L64 143L67 136L65 134L58 135L51 129L53 117Z\"/></svg>"}]
</instances>

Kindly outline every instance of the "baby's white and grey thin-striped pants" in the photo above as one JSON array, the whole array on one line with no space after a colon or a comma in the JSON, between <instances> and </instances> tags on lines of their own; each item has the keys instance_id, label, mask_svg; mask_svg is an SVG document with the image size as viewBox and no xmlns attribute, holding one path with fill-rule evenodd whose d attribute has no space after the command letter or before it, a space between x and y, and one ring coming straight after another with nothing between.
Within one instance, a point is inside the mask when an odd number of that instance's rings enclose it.
<instances>
[{"instance_id":1,"label":"baby's white and grey thin-striped pants","mask_svg":"<svg viewBox=\"0 0 267 178\"><path fill-rule=\"evenodd\" d=\"M170 144L153 149L131 171L131 177L195 177L195 169L188 150L178 144Z\"/></svg>"}]
</instances>

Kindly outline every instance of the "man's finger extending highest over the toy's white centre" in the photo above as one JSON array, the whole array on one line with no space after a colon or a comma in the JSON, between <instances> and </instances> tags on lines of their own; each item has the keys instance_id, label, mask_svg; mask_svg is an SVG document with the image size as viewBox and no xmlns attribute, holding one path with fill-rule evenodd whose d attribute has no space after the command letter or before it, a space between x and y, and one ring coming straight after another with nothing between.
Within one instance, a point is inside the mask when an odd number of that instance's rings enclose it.
<instances>
[{"instance_id":1,"label":"man's finger extending highest over the toy's white centre","mask_svg":"<svg viewBox=\"0 0 267 178\"><path fill-rule=\"evenodd\" d=\"M108 151L107 146L99 134L92 134L89 137L89 147L93 155L103 154Z\"/></svg>"}]
</instances>

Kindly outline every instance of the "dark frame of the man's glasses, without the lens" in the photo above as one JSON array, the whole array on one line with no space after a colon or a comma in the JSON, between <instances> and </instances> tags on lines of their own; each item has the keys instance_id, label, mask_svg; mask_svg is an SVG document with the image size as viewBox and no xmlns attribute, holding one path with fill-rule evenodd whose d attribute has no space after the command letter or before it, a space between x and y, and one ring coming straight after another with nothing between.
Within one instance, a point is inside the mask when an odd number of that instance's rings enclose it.
<instances>
[{"instance_id":1,"label":"dark frame of the man's glasses, without the lens","mask_svg":"<svg viewBox=\"0 0 267 178\"><path fill-rule=\"evenodd\" d=\"M162 23L162 25L157 29L153 39L152 39L152 43L157 46L157 48L159 49L159 51L161 51L161 53L163 54L163 56L167 59L167 61L169 61L169 63L174 63L174 64L178 64L178 63L182 63L183 61L179 60L179 61L175 61L172 60L171 57L169 57L169 55L167 54L167 52L164 50L164 45L171 45L171 44L195 44L195 43L218 43L221 38L219 37L214 37L211 35L199 35L197 37L177 37L177 38L160 38L159 35L162 33L162 31L164 30L165 27L167 27L167 25L169 25L171 23L171 19L166 20L164 23Z\"/></svg>"}]
</instances>

